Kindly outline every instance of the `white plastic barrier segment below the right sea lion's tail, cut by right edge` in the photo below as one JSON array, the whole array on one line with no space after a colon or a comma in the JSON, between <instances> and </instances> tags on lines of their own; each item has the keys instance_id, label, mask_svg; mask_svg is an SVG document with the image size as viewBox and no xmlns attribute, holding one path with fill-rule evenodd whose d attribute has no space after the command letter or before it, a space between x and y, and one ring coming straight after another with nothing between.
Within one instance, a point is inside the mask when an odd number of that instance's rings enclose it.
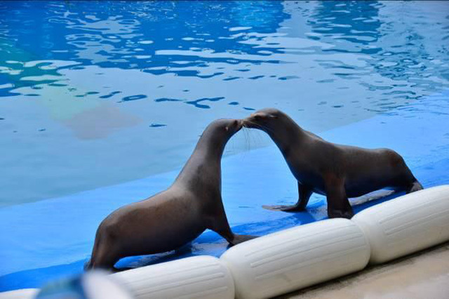
<instances>
[{"instance_id":1,"label":"white plastic barrier segment below the right sea lion's tail, cut by right edge","mask_svg":"<svg viewBox=\"0 0 449 299\"><path fill-rule=\"evenodd\" d=\"M352 218L371 246L370 263L449 240L449 185L431 187L361 211Z\"/></svg>"}]
</instances>

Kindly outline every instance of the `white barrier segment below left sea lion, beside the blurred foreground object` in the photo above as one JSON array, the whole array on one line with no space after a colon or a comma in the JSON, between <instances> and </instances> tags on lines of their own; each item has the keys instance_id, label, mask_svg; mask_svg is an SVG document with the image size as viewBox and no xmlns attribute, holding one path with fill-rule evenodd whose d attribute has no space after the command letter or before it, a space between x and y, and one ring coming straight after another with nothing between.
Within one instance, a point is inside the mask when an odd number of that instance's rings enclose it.
<instances>
[{"instance_id":1,"label":"white barrier segment below left sea lion, beside the blurred foreground object","mask_svg":"<svg viewBox=\"0 0 449 299\"><path fill-rule=\"evenodd\" d=\"M234 281L219 259L201 255L112 274L135 298L234 298Z\"/></svg>"}]
</instances>

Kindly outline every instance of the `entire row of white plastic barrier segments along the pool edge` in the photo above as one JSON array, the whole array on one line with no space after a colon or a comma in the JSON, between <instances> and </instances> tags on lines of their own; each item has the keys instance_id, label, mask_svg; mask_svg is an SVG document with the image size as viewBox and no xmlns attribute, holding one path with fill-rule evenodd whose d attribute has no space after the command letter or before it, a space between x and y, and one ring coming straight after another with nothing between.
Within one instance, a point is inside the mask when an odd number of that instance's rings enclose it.
<instances>
[{"instance_id":1,"label":"entire row of white plastic barrier segments along the pool edge","mask_svg":"<svg viewBox=\"0 0 449 299\"><path fill-rule=\"evenodd\" d=\"M269 234L219 259L196 256L112 274L135 298L269 298L449 240L449 185ZM36 289L0 293L33 298Z\"/></svg>"}]
</instances>

